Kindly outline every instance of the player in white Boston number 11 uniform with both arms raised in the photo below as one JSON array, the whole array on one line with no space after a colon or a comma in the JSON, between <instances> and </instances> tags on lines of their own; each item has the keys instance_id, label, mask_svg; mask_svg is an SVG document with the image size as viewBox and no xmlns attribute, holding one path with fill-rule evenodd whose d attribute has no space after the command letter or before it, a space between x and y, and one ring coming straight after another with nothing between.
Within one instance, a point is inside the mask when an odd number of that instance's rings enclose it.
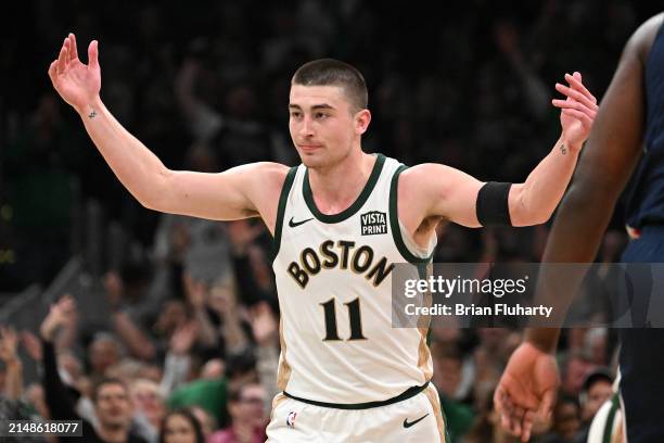
<instances>
[{"instance_id":1,"label":"player in white Boston number 11 uniform with both arms raised","mask_svg":"<svg viewBox=\"0 0 664 443\"><path fill-rule=\"evenodd\" d=\"M557 85L562 135L524 183L483 183L451 167L406 168L363 153L371 121L357 69L334 60L293 76L290 131L303 164L220 174L167 169L102 103L98 43L89 64L69 35L49 75L123 185L155 211L217 220L261 217L274 237L281 357L270 442L443 441L426 330L391 327L398 262L427 263L442 220L478 227L546 221L596 113L578 73Z\"/></svg>"}]
</instances>

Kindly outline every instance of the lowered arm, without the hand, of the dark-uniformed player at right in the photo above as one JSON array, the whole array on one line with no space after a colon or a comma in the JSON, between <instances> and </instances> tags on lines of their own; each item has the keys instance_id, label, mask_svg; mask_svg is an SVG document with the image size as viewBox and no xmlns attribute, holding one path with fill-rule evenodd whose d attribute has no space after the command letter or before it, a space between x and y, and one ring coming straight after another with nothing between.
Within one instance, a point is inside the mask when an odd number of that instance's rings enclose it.
<instances>
[{"instance_id":1,"label":"lowered arm, without the hand, of the dark-uniformed player at right","mask_svg":"<svg viewBox=\"0 0 664 443\"><path fill-rule=\"evenodd\" d=\"M599 250L615 203L640 157L646 121L644 66L663 17L659 14L647 21L625 46L586 152L554 219L542 262L591 262ZM550 295L546 291L550 284L545 279L537 295L545 301L556 299L556 305L564 308L582 279L580 273L569 276L564 290L560 288L563 282L557 281L556 294ZM554 352L559 333L558 328L528 329L526 341Z\"/></svg>"}]
</instances>

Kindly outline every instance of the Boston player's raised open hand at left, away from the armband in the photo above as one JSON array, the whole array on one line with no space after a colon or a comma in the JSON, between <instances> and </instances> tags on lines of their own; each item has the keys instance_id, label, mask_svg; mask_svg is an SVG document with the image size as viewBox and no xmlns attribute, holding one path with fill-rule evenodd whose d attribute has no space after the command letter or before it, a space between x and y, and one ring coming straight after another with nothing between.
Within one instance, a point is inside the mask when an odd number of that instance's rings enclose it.
<instances>
[{"instance_id":1,"label":"Boston player's raised open hand at left, away from the armband","mask_svg":"<svg viewBox=\"0 0 664 443\"><path fill-rule=\"evenodd\" d=\"M49 67L49 77L53 87L77 111L92 102L101 89L101 71L99 68L97 40L88 47L88 64L78 60L76 37L69 34L64 39L58 60Z\"/></svg>"}]
</instances>

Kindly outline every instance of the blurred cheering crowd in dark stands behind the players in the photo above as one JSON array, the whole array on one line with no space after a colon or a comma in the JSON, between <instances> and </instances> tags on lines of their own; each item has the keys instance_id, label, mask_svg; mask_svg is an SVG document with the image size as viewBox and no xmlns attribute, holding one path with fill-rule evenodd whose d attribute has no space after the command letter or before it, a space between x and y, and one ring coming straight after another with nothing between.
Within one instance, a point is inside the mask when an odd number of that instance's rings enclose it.
<instances>
[{"instance_id":1,"label":"blurred cheering crowd in dark stands behind the players","mask_svg":"<svg viewBox=\"0 0 664 443\"><path fill-rule=\"evenodd\" d=\"M579 71L601 98L627 37L655 12L625 0L437 3L33 0L7 14L5 28L30 38L0 47L17 85L0 103L0 292L48 284L78 252L77 202L98 201L128 246L99 276L105 324L87 322L77 302L91 294L74 293L38 330L0 330L0 414L81 417L98 439L89 441L258 442L277 392L269 232L257 220L156 214L133 201L50 87L47 67L66 33L81 52L100 41L102 99L173 169L298 163L290 78L332 56L367 79L365 151L522 181L559 135L554 83ZM618 261L621 225L618 207L598 262ZM443 226L435 261L536 262L547 233ZM512 441L491 397L520 337L433 330L433 381L454 442ZM583 441L611 396L615 352L610 330L564 331L562 392L537 441ZM37 365L39 381L23 382L25 365Z\"/></svg>"}]
</instances>

